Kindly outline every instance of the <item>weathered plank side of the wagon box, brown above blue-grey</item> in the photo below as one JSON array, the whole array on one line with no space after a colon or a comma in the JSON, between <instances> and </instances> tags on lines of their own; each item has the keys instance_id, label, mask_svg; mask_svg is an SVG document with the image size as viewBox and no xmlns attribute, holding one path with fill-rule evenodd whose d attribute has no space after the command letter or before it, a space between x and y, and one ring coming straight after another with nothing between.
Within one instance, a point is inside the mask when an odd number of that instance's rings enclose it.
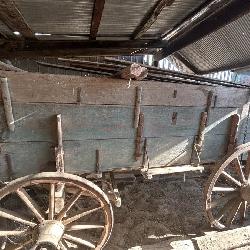
<instances>
[{"instance_id":1,"label":"weathered plank side of the wagon box, brown above blue-grey","mask_svg":"<svg viewBox=\"0 0 250 250\"><path fill-rule=\"evenodd\" d=\"M97 150L100 171L145 168L145 157L149 168L195 164L204 112L199 164L216 162L236 137L239 144L249 137L246 89L157 81L128 86L116 78L26 72L0 75L8 80L15 126L9 131L0 99L0 176L5 178L55 169L57 114L62 115L65 171L77 174L96 171ZM240 124L234 136L235 114Z\"/></svg>"}]
</instances>

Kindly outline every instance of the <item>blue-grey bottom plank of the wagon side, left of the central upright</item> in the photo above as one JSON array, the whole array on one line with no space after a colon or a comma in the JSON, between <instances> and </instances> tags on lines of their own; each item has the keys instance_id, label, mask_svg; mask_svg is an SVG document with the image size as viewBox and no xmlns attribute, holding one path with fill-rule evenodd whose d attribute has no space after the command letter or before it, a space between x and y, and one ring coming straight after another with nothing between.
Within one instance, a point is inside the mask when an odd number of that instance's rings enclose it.
<instances>
[{"instance_id":1,"label":"blue-grey bottom plank of the wagon side, left of the central upright","mask_svg":"<svg viewBox=\"0 0 250 250\"><path fill-rule=\"evenodd\" d=\"M48 142L15 142L0 144L0 176L8 177L6 156L10 156L14 177L41 171L55 170L55 145ZM141 161L134 158L134 140L65 141L65 171L70 173L94 172L96 150L100 151L101 170L139 168Z\"/></svg>"}]
</instances>

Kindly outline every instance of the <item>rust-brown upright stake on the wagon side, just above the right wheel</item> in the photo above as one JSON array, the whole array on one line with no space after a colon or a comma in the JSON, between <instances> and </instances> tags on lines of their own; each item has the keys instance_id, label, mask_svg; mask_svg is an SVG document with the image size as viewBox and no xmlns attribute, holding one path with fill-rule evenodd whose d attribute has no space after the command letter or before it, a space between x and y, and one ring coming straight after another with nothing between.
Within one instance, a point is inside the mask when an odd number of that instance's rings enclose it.
<instances>
[{"instance_id":1,"label":"rust-brown upright stake on the wagon side, just above the right wheel","mask_svg":"<svg viewBox=\"0 0 250 250\"><path fill-rule=\"evenodd\" d=\"M240 115L234 114L231 117L231 127L229 131L227 153L232 153L237 144L237 132L240 124Z\"/></svg>"}]
</instances>

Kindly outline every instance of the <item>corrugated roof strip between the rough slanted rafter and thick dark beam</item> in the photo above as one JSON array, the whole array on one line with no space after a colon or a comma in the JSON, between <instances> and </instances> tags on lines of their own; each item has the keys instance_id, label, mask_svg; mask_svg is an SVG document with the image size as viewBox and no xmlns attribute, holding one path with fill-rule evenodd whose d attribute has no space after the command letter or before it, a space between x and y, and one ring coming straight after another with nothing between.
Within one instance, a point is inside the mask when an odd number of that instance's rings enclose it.
<instances>
[{"instance_id":1,"label":"corrugated roof strip between the rough slanted rafter and thick dark beam","mask_svg":"<svg viewBox=\"0 0 250 250\"><path fill-rule=\"evenodd\" d=\"M163 9L145 36L160 37L163 33L174 28L205 2L206 0L175 0L171 6Z\"/></svg>"}]
</instances>

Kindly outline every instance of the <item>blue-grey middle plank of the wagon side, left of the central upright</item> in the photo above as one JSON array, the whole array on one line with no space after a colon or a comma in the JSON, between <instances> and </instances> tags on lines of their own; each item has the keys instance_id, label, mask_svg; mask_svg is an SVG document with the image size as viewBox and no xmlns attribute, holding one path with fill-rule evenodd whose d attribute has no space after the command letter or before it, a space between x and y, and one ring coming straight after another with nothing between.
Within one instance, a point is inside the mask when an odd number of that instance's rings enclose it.
<instances>
[{"instance_id":1,"label":"blue-grey middle plank of the wagon side, left of the central upright","mask_svg":"<svg viewBox=\"0 0 250 250\"><path fill-rule=\"evenodd\" d=\"M63 140L135 138L132 107L15 104L13 112L15 133L0 120L0 141L57 142L56 114L62 115Z\"/></svg>"}]
</instances>

